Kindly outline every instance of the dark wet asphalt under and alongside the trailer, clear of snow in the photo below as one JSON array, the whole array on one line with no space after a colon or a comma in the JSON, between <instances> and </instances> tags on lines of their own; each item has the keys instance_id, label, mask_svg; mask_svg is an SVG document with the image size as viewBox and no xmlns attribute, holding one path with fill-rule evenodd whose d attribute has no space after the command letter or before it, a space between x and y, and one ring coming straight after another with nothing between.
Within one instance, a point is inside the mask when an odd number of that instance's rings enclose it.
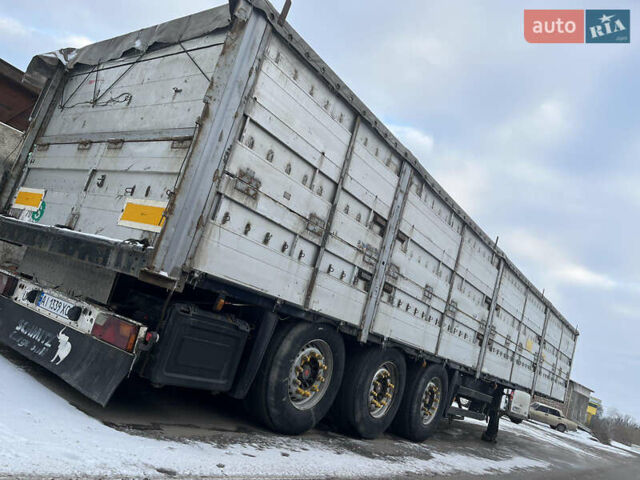
<instances>
[{"instance_id":1,"label":"dark wet asphalt under and alongside the trailer, clear of snow","mask_svg":"<svg viewBox=\"0 0 640 480\"><path fill-rule=\"evenodd\" d=\"M0 354L78 409L110 427L133 435L178 441L198 440L221 447L243 442L263 442L269 445L280 438L251 421L241 402L223 395L213 396L205 392L171 387L156 389L141 380L127 380L116 391L109 405L102 408L58 377L26 361L13 351L0 347ZM322 441L336 450L350 451L372 459L385 458L389 461L398 461L400 458L406 458L408 454L428 460L434 452L459 452L462 455L496 460L518 456L550 464L549 469L542 471L528 470L492 475L495 479L640 479L640 455L623 457L584 444L576 444L573 449L559 448L557 443L536 440L507 428L510 427L508 420L502 422L507 425L501 426L496 444L480 441L484 427L472 421L441 422L438 433L425 442L428 448L420 448L420 445L416 446L392 435L385 435L373 441L352 439L334 433L329 423L322 423L302 438ZM532 425L531 428L541 427ZM422 477L413 475L409 478ZM455 478L478 476L456 475Z\"/></svg>"}]
</instances>

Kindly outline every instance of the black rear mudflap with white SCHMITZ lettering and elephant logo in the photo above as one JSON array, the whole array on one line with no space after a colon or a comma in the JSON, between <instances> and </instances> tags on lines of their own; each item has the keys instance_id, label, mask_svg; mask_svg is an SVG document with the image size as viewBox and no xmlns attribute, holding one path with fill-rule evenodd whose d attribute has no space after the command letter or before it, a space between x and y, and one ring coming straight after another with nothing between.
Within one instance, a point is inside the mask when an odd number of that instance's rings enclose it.
<instances>
[{"instance_id":1,"label":"black rear mudflap with white SCHMITZ lettering and elephant logo","mask_svg":"<svg viewBox=\"0 0 640 480\"><path fill-rule=\"evenodd\" d=\"M0 341L105 406L135 356L0 297Z\"/></svg>"}]
</instances>

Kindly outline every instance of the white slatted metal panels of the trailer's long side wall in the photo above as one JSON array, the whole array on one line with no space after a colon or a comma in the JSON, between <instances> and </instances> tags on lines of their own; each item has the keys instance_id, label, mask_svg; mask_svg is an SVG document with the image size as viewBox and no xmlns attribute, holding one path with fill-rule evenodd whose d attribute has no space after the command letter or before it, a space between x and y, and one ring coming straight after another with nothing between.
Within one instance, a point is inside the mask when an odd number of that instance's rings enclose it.
<instances>
[{"instance_id":1,"label":"white slatted metal panels of the trailer's long side wall","mask_svg":"<svg viewBox=\"0 0 640 480\"><path fill-rule=\"evenodd\" d=\"M362 123L326 225L355 113L274 37L245 115L221 182L220 208L205 227L194 267L302 306L320 232L329 228L309 309L359 325L402 159ZM415 171L398 232L371 333L477 368L498 252L470 230L463 239L463 221ZM546 307L514 271L504 270L482 372L530 389ZM561 326L552 316L539 375L539 390L556 398L567 380L556 364L569 370L569 357L557 353ZM566 341L564 351L572 346Z\"/></svg>"}]
</instances>

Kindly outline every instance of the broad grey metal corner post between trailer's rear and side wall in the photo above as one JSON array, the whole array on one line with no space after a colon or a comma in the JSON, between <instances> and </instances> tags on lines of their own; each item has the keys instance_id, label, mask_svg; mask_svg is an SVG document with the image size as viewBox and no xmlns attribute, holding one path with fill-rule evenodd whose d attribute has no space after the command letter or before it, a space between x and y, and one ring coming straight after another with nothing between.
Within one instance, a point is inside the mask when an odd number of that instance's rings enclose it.
<instances>
[{"instance_id":1,"label":"broad grey metal corner post between trailer's rear and side wall","mask_svg":"<svg viewBox=\"0 0 640 480\"><path fill-rule=\"evenodd\" d=\"M235 4L231 31L205 93L201 125L185 161L167 221L156 242L152 269L168 272L176 284L184 278L216 198L222 169L243 124L242 111L259 74L270 26L246 0Z\"/></svg>"}]
</instances>

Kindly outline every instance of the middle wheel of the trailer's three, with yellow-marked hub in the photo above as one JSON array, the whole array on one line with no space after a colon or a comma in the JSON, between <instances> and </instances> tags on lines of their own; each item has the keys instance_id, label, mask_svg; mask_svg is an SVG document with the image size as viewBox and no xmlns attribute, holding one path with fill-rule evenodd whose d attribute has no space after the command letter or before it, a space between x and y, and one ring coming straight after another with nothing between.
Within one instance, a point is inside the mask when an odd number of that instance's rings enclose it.
<instances>
[{"instance_id":1,"label":"middle wheel of the trailer's three, with yellow-marked hub","mask_svg":"<svg viewBox=\"0 0 640 480\"><path fill-rule=\"evenodd\" d=\"M404 355L395 349L365 348L347 359L332 413L338 427L361 438L375 438L396 415L406 378Z\"/></svg>"}]
</instances>

